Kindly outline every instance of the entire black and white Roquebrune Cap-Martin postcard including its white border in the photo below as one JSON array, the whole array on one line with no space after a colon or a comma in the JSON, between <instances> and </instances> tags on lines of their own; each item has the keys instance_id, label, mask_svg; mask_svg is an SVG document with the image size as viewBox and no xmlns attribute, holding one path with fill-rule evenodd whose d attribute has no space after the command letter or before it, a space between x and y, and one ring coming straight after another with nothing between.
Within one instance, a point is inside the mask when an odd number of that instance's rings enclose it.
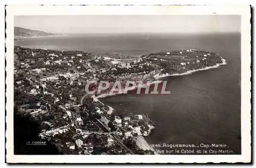
<instances>
[{"instance_id":1,"label":"entire black and white Roquebrune Cap-Martin postcard including its white border","mask_svg":"<svg viewBox=\"0 0 256 168\"><path fill-rule=\"evenodd\" d=\"M62 7L7 7L7 161L250 162L249 6Z\"/></svg>"}]
</instances>

